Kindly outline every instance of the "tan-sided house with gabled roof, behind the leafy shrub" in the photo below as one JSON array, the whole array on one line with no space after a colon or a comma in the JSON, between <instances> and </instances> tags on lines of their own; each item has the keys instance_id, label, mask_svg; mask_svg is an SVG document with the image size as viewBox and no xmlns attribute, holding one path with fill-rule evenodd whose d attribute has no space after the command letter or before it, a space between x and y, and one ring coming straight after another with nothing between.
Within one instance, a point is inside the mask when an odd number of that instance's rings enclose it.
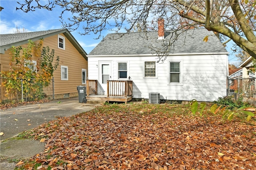
<instances>
[{"instance_id":1,"label":"tan-sided house with gabled roof, behind the leafy shrub","mask_svg":"<svg viewBox=\"0 0 256 170\"><path fill-rule=\"evenodd\" d=\"M53 74L54 98L78 96L76 87L80 85L85 86L85 82L82 80L82 72L86 74L85 78L88 77L87 54L67 29L0 35L1 71L8 71L10 68L10 48L12 46L27 47L26 45L29 39L36 44L39 43L40 39L44 39L43 46L48 46L50 50L54 49L55 58L56 56L60 57L58 68ZM33 55L33 60L38 61L38 58ZM64 77L62 74L63 71L66 73ZM38 74L40 73L41 70L38 70ZM52 91L46 92L50 98L53 97L52 93ZM3 98L4 91L1 90L1 100Z\"/></svg>"}]
</instances>

